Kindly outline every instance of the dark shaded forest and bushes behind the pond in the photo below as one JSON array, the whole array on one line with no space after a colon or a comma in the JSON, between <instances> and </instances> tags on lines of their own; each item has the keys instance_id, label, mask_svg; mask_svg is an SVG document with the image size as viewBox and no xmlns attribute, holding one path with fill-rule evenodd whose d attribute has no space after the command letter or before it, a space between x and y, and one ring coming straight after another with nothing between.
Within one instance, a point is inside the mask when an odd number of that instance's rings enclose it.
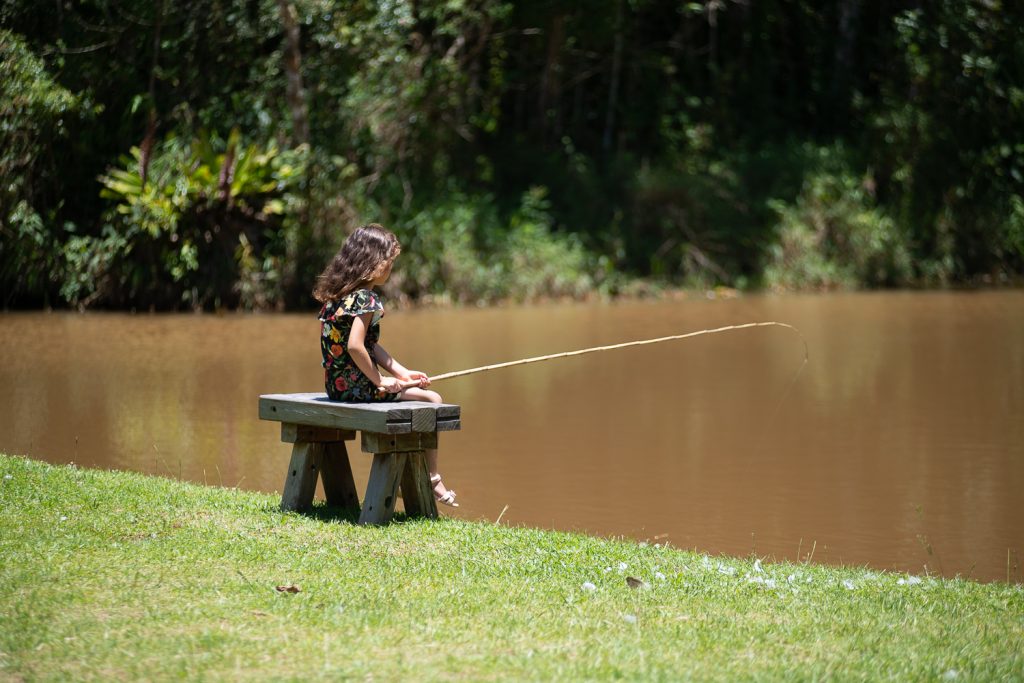
<instances>
[{"instance_id":1,"label":"dark shaded forest and bushes behind the pond","mask_svg":"<svg viewBox=\"0 0 1024 683\"><path fill-rule=\"evenodd\" d=\"M5 307L1006 283L1024 4L0 0Z\"/></svg>"}]
</instances>

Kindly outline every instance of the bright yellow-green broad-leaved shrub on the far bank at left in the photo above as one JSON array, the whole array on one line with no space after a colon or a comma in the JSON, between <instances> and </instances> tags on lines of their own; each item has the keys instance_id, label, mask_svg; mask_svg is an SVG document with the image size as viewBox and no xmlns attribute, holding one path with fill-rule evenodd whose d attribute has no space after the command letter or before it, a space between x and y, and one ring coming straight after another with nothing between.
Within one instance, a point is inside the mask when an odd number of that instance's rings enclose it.
<instances>
[{"instance_id":1,"label":"bright yellow-green broad-leaved shrub on the far bank at left","mask_svg":"<svg viewBox=\"0 0 1024 683\"><path fill-rule=\"evenodd\" d=\"M152 156L133 147L100 177L101 196L116 204L99 237L65 247L71 302L146 302L174 308L281 300L287 240L284 214L303 174L305 150L244 144L202 134L169 137Z\"/></svg>"}]
</instances>

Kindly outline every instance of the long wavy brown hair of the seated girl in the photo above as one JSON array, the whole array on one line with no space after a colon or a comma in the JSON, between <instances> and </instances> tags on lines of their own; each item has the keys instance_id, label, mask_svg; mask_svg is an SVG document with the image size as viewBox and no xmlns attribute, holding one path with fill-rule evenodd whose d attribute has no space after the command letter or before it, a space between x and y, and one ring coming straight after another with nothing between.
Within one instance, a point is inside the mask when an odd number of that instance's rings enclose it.
<instances>
[{"instance_id":1,"label":"long wavy brown hair of the seated girl","mask_svg":"<svg viewBox=\"0 0 1024 683\"><path fill-rule=\"evenodd\" d=\"M367 287L400 252L398 238L390 230L378 223L364 225L348 236L316 279L313 297L321 303L329 303Z\"/></svg>"}]
</instances>

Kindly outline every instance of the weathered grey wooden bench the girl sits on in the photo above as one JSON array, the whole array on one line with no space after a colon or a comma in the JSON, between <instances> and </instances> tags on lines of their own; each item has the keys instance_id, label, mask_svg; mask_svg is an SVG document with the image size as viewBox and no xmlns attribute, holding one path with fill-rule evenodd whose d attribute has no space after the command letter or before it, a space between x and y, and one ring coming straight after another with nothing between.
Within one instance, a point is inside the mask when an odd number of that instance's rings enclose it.
<instances>
[{"instance_id":1,"label":"weathered grey wooden bench the girl sits on","mask_svg":"<svg viewBox=\"0 0 1024 683\"><path fill-rule=\"evenodd\" d=\"M387 523L399 486L408 515L437 517L424 450L437 447L437 432L461 428L459 405L341 403L323 393L265 394L259 397L259 417L280 422L281 440L293 444L283 510L308 510L321 477L328 505L358 514L360 524ZM362 432L362 452L374 455L361 509L345 447L356 431Z\"/></svg>"}]
</instances>

